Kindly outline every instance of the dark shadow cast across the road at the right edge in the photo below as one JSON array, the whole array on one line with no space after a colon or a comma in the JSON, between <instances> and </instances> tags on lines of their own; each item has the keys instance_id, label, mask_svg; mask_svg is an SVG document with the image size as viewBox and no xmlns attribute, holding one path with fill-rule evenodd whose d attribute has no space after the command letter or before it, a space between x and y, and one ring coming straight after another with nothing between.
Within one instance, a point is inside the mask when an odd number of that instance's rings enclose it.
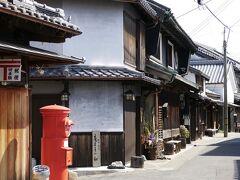
<instances>
[{"instance_id":1,"label":"dark shadow cast across the road at the right edge","mask_svg":"<svg viewBox=\"0 0 240 180\"><path fill-rule=\"evenodd\" d=\"M201 154L201 156L234 156L239 160L234 160L234 179L240 179L240 138L235 138L209 146L215 149Z\"/></svg>"}]
</instances>

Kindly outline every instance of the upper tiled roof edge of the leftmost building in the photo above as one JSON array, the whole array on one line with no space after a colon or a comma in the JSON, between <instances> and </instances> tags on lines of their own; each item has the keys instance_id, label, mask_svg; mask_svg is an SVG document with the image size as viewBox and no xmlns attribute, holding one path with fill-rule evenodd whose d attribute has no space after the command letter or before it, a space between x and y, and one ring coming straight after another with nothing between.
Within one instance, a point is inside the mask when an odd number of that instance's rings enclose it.
<instances>
[{"instance_id":1,"label":"upper tiled roof edge of the leftmost building","mask_svg":"<svg viewBox=\"0 0 240 180\"><path fill-rule=\"evenodd\" d=\"M6 9L9 11L12 11L14 13L19 13L24 16L36 18L41 21L45 21L47 23L55 24L57 26L62 26L64 28L68 28L74 31L78 31L80 33L79 27L68 22L62 17L56 17L56 16L50 16L42 12L37 12L35 10L31 10L27 7L23 7L20 5L13 4L8 1L0 1L0 10L1 9Z\"/></svg>"}]
</instances>

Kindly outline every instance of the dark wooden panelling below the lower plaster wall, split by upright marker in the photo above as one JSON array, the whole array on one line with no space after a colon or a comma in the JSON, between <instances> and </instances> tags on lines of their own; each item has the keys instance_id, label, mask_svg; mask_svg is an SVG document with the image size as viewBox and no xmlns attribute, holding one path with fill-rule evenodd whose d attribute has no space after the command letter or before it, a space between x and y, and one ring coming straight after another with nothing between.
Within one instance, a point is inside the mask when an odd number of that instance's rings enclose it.
<instances>
[{"instance_id":1,"label":"dark wooden panelling below the lower plaster wall, split by upright marker","mask_svg":"<svg viewBox=\"0 0 240 180\"><path fill-rule=\"evenodd\" d=\"M124 162L123 133L101 133L101 165ZM92 166L92 133L72 133L69 146L73 148L73 167Z\"/></svg>"}]
</instances>

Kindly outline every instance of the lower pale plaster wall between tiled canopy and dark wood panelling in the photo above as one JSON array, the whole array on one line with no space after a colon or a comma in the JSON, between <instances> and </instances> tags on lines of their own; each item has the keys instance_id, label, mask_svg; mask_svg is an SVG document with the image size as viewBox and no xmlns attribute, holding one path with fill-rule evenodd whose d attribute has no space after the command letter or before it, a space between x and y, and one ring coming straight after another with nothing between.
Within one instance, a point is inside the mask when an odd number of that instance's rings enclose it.
<instances>
[{"instance_id":1,"label":"lower pale plaster wall between tiled canopy and dark wood panelling","mask_svg":"<svg viewBox=\"0 0 240 180\"><path fill-rule=\"evenodd\" d=\"M123 87L120 82L70 82L73 132L122 132Z\"/></svg>"}]
</instances>

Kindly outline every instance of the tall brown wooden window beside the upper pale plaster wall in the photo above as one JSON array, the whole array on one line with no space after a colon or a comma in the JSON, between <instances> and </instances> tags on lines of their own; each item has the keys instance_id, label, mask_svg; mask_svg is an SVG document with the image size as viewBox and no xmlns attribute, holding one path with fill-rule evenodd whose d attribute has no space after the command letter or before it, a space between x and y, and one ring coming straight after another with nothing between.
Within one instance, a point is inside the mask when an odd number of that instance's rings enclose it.
<instances>
[{"instance_id":1,"label":"tall brown wooden window beside the upper pale plaster wall","mask_svg":"<svg viewBox=\"0 0 240 180\"><path fill-rule=\"evenodd\" d=\"M124 62L136 67L137 23L129 14L124 13Z\"/></svg>"}]
</instances>

